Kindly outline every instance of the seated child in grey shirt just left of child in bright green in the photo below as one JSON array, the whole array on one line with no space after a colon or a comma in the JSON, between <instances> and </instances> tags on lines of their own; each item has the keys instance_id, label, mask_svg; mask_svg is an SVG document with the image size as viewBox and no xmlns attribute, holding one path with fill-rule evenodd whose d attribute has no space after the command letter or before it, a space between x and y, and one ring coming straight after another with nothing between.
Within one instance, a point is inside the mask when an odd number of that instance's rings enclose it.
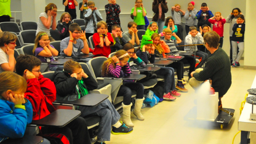
<instances>
[{"instance_id":1,"label":"seated child in grey shirt just left of child in bright green","mask_svg":"<svg viewBox=\"0 0 256 144\"><path fill-rule=\"evenodd\" d=\"M124 39L126 39L127 42L130 42L133 46L140 45L140 39L138 39L137 23L129 22L128 30L129 31L123 34Z\"/></svg>"}]
</instances>

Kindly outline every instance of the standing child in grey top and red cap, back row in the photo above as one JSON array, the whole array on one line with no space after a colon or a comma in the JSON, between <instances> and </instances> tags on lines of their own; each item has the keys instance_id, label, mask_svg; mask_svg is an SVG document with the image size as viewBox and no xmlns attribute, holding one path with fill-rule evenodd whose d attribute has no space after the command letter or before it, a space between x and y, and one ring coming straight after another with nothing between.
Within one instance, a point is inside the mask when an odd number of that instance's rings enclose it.
<instances>
[{"instance_id":1,"label":"standing child in grey top and red cap, back row","mask_svg":"<svg viewBox=\"0 0 256 144\"><path fill-rule=\"evenodd\" d=\"M184 17L186 18L186 34L190 32L190 26L196 26L198 25L198 20L196 19L196 14L198 13L198 10L194 8L194 1L191 1L188 3L188 10L186 10L186 13Z\"/></svg>"}]
</instances>

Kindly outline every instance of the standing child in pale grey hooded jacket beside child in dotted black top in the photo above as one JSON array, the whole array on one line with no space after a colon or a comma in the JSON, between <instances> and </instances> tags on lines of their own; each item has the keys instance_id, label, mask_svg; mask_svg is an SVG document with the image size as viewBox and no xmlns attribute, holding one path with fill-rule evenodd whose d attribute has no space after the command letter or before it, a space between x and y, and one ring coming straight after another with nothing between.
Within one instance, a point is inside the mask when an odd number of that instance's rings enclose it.
<instances>
[{"instance_id":1,"label":"standing child in pale grey hooded jacket beside child in dotted black top","mask_svg":"<svg viewBox=\"0 0 256 144\"><path fill-rule=\"evenodd\" d=\"M97 33L97 23L103 20L103 18L93 1L87 2L87 7L84 19L86 20L86 38L89 39L90 36Z\"/></svg>"}]
</instances>

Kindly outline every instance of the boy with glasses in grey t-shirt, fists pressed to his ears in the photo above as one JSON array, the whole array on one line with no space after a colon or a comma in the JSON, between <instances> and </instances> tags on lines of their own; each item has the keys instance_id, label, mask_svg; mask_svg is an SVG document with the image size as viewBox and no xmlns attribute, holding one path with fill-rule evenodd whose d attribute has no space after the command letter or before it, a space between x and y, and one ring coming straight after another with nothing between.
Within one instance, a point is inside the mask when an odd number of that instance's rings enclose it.
<instances>
[{"instance_id":1,"label":"boy with glasses in grey t-shirt, fists pressed to his ears","mask_svg":"<svg viewBox=\"0 0 256 144\"><path fill-rule=\"evenodd\" d=\"M71 55L80 55L81 52L89 54L92 51L87 44L86 34L81 31L81 27L77 23L72 23L70 25L70 36L60 42L60 55L70 57Z\"/></svg>"}]
</instances>

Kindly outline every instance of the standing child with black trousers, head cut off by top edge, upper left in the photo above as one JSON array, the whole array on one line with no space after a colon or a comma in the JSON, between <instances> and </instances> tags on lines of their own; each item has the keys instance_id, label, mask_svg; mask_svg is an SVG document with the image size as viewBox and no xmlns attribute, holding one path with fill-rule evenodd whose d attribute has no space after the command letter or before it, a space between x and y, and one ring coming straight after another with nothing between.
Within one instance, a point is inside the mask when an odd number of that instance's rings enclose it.
<instances>
[{"instance_id":1,"label":"standing child with black trousers, head cut off by top edge, upper left","mask_svg":"<svg viewBox=\"0 0 256 144\"><path fill-rule=\"evenodd\" d=\"M76 19L76 6L78 2L76 0L63 0L65 6L65 12L70 13L72 20Z\"/></svg>"}]
</instances>

